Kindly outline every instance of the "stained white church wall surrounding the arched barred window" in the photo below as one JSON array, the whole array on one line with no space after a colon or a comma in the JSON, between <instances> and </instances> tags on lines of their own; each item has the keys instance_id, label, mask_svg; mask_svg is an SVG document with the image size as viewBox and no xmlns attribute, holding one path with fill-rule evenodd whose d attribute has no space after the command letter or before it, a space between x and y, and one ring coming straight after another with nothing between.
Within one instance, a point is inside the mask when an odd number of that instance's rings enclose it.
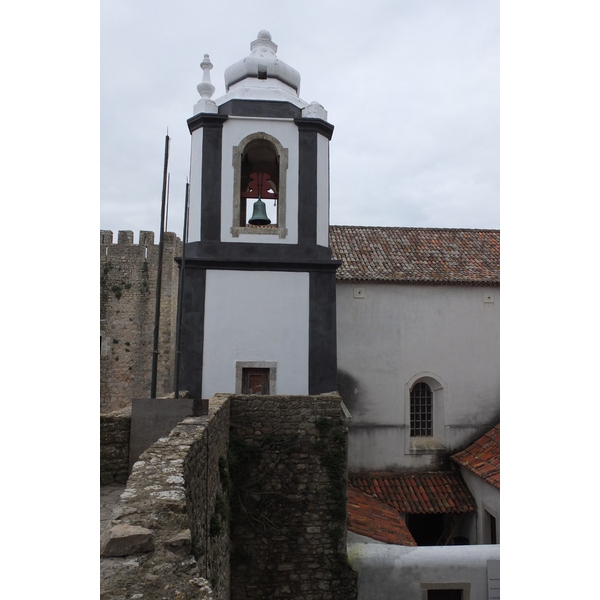
<instances>
[{"instance_id":1,"label":"stained white church wall surrounding the arched barred window","mask_svg":"<svg viewBox=\"0 0 600 600\"><path fill-rule=\"evenodd\" d=\"M354 297L355 288L363 297ZM493 303L484 302L490 294ZM352 414L350 468L430 465L431 454L407 454L405 439L408 383L422 373L445 385L442 442L448 450L495 424L499 325L499 288L338 284L338 371Z\"/></svg>"}]
</instances>

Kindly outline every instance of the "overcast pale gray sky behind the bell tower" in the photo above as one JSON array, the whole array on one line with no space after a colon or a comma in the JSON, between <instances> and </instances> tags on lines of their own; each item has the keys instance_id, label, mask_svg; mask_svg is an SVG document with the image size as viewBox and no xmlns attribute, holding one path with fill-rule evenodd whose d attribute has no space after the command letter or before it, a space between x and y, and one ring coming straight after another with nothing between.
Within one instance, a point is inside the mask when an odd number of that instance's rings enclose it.
<instances>
[{"instance_id":1,"label":"overcast pale gray sky behind the bell tower","mask_svg":"<svg viewBox=\"0 0 600 600\"><path fill-rule=\"evenodd\" d=\"M331 223L500 226L499 2L102 0L101 228L182 233L186 120L205 53L213 99L261 29L335 126Z\"/></svg>"}]
</instances>

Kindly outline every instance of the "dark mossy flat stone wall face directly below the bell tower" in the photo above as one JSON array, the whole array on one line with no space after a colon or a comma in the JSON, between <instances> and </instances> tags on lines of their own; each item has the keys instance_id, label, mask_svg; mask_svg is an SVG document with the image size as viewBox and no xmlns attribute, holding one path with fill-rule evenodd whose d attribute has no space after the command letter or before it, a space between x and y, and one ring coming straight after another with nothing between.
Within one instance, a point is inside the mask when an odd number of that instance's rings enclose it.
<instances>
[{"instance_id":1,"label":"dark mossy flat stone wall face directly below the bell tower","mask_svg":"<svg viewBox=\"0 0 600 600\"><path fill-rule=\"evenodd\" d=\"M231 598L352 600L337 394L233 396Z\"/></svg>"}]
</instances>

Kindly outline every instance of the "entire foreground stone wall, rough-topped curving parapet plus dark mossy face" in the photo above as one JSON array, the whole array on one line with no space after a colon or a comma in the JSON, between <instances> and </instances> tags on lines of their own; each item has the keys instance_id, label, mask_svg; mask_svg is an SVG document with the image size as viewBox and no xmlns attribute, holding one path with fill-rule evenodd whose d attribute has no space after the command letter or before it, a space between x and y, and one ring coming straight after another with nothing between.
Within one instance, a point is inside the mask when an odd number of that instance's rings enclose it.
<instances>
[{"instance_id":1,"label":"entire foreground stone wall, rough-topped curving parapet plus dark mossy face","mask_svg":"<svg viewBox=\"0 0 600 600\"><path fill-rule=\"evenodd\" d=\"M135 463L101 599L355 599L346 466L337 394L216 395Z\"/></svg>"}]
</instances>

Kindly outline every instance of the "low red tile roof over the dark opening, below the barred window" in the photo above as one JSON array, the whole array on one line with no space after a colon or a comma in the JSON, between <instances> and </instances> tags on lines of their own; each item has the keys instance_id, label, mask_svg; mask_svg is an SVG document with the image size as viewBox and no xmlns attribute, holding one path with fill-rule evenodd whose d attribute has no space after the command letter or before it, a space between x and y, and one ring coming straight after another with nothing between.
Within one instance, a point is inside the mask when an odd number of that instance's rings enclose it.
<instances>
[{"instance_id":1,"label":"low red tile roof over the dark opening, below the barred window","mask_svg":"<svg viewBox=\"0 0 600 600\"><path fill-rule=\"evenodd\" d=\"M400 513L466 513L475 511L469 488L458 473L351 473L350 485L377 497Z\"/></svg>"}]
</instances>

